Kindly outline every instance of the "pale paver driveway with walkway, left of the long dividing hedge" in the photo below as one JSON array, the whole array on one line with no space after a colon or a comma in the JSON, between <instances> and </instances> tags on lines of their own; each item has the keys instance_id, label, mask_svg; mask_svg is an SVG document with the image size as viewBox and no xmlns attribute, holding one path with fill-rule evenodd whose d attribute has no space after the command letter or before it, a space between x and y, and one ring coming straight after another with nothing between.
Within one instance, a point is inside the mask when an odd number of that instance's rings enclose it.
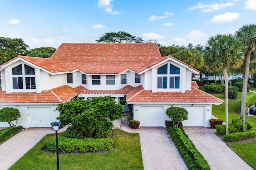
<instances>
[{"instance_id":1,"label":"pale paver driveway with walkway, left of the long dividing hedge","mask_svg":"<svg viewBox=\"0 0 256 170\"><path fill-rule=\"evenodd\" d=\"M144 170L187 170L166 128L132 129L127 123L127 116L123 116L121 130L140 134Z\"/></svg>"}]
</instances>

